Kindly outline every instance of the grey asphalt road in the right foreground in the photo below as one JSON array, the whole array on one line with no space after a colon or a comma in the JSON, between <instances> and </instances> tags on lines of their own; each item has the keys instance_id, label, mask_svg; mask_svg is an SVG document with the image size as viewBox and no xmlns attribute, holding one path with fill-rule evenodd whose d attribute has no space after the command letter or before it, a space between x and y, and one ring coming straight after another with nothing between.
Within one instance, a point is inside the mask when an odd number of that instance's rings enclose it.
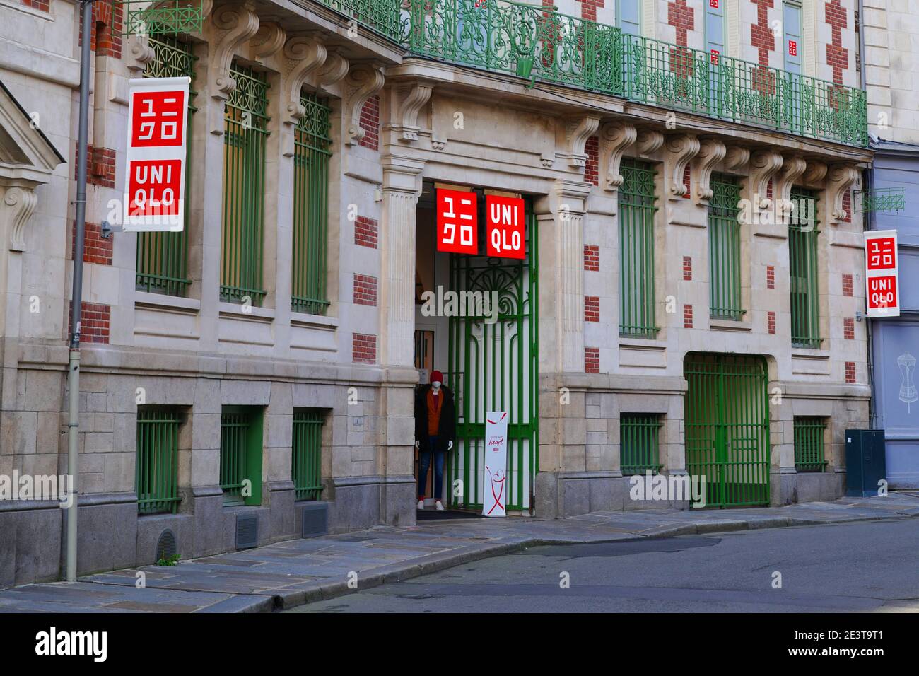
<instances>
[{"instance_id":1,"label":"grey asphalt road in the right foreground","mask_svg":"<svg viewBox=\"0 0 919 676\"><path fill-rule=\"evenodd\" d=\"M846 611L919 612L919 520L531 547L290 612Z\"/></svg>"}]
</instances>

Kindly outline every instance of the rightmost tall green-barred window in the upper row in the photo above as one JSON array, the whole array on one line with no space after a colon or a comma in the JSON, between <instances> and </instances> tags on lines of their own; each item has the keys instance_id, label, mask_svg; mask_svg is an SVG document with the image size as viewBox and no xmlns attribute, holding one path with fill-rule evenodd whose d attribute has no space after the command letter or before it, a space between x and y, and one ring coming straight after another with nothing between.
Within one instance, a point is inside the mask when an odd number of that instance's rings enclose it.
<instances>
[{"instance_id":1,"label":"rightmost tall green-barred window in the upper row","mask_svg":"<svg viewBox=\"0 0 919 676\"><path fill-rule=\"evenodd\" d=\"M817 193L791 189L789 223L789 282L791 287L791 345L819 348L820 292L817 280Z\"/></svg>"}]
</instances>

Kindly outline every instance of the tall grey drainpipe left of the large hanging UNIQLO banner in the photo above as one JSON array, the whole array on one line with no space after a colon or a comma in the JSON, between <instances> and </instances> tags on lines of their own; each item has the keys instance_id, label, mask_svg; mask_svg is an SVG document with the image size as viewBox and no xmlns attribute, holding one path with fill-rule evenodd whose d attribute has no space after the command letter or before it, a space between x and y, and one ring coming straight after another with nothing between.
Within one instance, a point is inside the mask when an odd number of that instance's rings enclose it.
<instances>
[{"instance_id":1,"label":"tall grey drainpipe left of the large hanging UNIQLO banner","mask_svg":"<svg viewBox=\"0 0 919 676\"><path fill-rule=\"evenodd\" d=\"M67 508L67 581L76 581L76 510L80 442L80 310L83 306L83 251L86 222L86 136L89 126L89 43L92 35L93 0L81 0L83 49L80 54L80 121L76 142L76 242L74 245L74 293L71 301L70 360L67 364L67 474L74 482Z\"/></svg>"}]
</instances>

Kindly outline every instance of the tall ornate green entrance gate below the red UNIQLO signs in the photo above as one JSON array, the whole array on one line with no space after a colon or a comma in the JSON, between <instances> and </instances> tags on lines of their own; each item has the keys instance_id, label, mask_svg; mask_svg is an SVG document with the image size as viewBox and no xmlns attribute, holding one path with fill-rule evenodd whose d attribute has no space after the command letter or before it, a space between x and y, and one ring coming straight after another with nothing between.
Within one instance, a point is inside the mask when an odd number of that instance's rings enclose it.
<instances>
[{"instance_id":1,"label":"tall ornate green entrance gate below the red UNIQLO signs","mask_svg":"<svg viewBox=\"0 0 919 676\"><path fill-rule=\"evenodd\" d=\"M484 199L479 195L480 246L484 248ZM505 509L532 509L539 464L537 437L537 247L536 219L527 201L527 258L450 256L450 290L493 293L497 320L488 313L449 319L448 384L456 396L457 441L449 454L450 506L481 509L485 413L507 411ZM462 305L462 304L461 304ZM482 307L485 307L482 304ZM457 483L459 480L459 484Z\"/></svg>"}]
</instances>

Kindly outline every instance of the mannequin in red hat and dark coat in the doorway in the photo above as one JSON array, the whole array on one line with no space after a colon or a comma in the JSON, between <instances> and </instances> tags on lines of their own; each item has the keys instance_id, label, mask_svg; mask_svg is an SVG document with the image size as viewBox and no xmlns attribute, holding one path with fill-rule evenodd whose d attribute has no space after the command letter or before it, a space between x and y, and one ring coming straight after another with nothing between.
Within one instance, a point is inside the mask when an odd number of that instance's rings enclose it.
<instances>
[{"instance_id":1,"label":"mannequin in red hat and dark coat in the doorway","mask_svg":"<svg viewBox=\"0 0 919 676\"><path fill-rule=\"evenodd\" d=\"M444 374L431 372L431 384L424 385L414 400L414 447L418 449L418 509L425 509L427 469L434 460L435 508L443 510L444 457L456 437L456 407L453 393L444 385Z\"/></svg>"}]
</instances>

